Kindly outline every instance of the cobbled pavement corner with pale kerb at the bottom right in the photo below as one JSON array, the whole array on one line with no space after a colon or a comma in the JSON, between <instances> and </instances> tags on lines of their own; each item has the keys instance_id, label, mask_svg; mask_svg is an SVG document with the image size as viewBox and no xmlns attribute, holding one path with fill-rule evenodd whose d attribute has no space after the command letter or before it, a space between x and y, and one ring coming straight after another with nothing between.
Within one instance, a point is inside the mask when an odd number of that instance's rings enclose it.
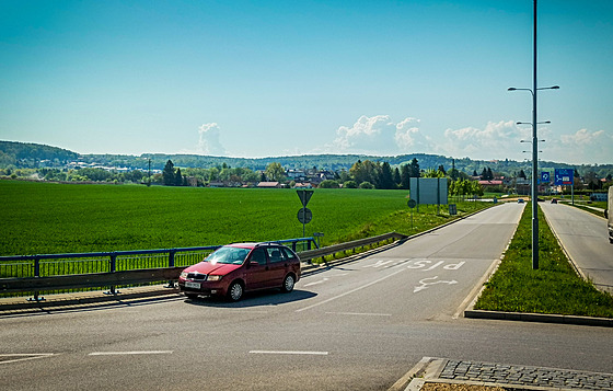
<instances>
[{"instance_id":1,"label":"cobbled pavement corner with pale kerb at the bottom right","mask_svg":"<svg viewBox=\"0 0 613 391\"><path fill-rule=\"evenodd\" d=\"M424 357L390 390L613 390L613 373ZM460 387L462 386L462 387ZM401 388L397 388L401 387Z\"/></svg>"}]
</instances>

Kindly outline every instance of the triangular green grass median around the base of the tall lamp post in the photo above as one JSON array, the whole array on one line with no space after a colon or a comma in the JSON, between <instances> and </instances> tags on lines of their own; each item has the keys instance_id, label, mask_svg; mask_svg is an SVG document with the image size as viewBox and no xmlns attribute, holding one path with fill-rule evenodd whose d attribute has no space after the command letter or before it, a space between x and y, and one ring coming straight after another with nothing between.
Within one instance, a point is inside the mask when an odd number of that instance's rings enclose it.
<instances>
[{"instance_id":1,"label":"triangular green grass median around the base of the tall lamp post","mask_svg":"<svg viewBox=\"0 0 613 391\"><path fill-rule=\"evenodd\" d=\"M613 318L613 296L575 273L541 209L539 219L540 268L532 269L531 207L527 205L509 249L475 309Z\"/></svg>"}]
</instances>

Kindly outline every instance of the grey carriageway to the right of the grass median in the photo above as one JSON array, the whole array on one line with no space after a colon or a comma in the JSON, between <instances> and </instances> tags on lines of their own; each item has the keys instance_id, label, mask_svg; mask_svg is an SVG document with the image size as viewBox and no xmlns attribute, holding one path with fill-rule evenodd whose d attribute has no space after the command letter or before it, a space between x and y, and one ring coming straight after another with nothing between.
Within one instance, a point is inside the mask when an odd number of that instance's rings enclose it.
<instances>
[{"instance_id":1,"label":"grey carriageway to the right of the grass median","mask_svg":"<svg viewBox=\"0 0 613 391\"><path fill-rule=\"evenodd\" d=\"M568 255L583 275L613 292L613 245L606 220L564 204L539 204Z\"/></svg>"}]
</instances>

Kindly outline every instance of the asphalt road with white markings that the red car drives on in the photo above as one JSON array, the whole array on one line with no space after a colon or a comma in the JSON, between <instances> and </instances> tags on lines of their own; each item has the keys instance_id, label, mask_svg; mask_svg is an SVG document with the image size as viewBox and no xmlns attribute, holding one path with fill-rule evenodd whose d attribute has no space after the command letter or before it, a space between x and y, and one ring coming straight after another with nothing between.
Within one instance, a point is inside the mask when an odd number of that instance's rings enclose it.
<instances>
[{"instance_id":1,"label":"asphalt road with white markings that the red car drives on","mask_svg":"<svg viewBox=\"0 0 613 391\"><path fill-rule=\"evenodd\" d=\"M458 317L522 209L497 206L288 295L0 318L0 389L386 390L424 356L612 372L610 329Z\"/></svg>"}]
</instances>

